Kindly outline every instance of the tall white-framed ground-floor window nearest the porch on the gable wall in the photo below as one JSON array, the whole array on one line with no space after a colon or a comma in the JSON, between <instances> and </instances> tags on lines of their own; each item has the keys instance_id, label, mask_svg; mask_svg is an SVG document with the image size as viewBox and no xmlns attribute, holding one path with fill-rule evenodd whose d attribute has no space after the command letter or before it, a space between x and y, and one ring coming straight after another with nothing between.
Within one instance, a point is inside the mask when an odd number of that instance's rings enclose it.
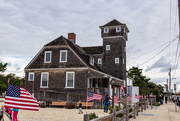
<instances>
[{"instance_id":1,"label":"tall white-framed ground-floor window nearest the porch on the gable wall","mask_svg":"<svg viewBox=\"0 0 180 121\"><path fill-rule=\"evenodd\" d=\"M66 72L66 88L74 88L74 72Z\"/></svg>"}]
</instances>

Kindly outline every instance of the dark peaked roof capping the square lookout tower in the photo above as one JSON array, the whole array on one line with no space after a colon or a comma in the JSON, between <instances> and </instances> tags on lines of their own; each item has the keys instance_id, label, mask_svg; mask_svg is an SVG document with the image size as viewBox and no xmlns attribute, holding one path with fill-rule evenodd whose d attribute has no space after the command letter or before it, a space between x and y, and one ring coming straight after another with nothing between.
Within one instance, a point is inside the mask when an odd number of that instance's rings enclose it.
<instances>
[{"instance_id":1,"label":"dark peaked roof capping the square lookout tower","mask_svg":"<svg viewBox=\"0 0 180 121\"><path fill-rule=\"evenodd\" d=\"M117 25L123 25L126 27L127 31L129 32L129 29L127 28L126 24L119 22L116 19L113 19L112 21L108 22L105 25L99 26L100 28L108 27L108 26L117 26Z\"/></svg>"}]
</instances>

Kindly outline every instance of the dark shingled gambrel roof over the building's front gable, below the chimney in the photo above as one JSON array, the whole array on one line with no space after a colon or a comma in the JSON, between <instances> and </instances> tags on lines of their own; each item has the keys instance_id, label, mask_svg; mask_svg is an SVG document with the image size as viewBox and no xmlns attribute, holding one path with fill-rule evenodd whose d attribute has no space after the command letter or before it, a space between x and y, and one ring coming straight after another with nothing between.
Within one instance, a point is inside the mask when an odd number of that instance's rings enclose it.
<instances>
[{"instance_id":1,"label":"dark shingled gambrel roof over the building's front gable, below the chimney","mask_svg":"<svg viewBox=\"0 0 180 121\"><path fill-rule=\"evenodd\" d=\"M85 51L77 44L72 43L70 40L66 39L63 36L58 37L57 39L51 41L50 43L46 44L46 46L54 46L54 45L68 45L81 59L82 61L88 65L89 67L102 71L96 64L91 65L89 64L89 57L86 55Z\"/></svg>"}]
</instances>

